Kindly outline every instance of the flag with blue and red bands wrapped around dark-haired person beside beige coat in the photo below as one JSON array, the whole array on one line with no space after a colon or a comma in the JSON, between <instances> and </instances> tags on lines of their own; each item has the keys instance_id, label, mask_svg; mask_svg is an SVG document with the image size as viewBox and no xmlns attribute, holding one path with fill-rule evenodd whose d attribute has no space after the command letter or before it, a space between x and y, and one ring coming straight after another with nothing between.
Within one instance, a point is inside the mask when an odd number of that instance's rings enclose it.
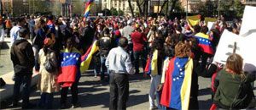
<instances>
[{"instance_id":1,"label":"flag with blue and red bands wrapped around dark-haired person beside beige coat","mask_svg":"<svg viewBox=\"0 0 256 110\"><path fill-rule=\"evenodd\" d=\"M57 82L64 83L62 87L72 86L73 82L80 75L81 55L79 51L73 47L72 52L68 52L67 48L61 52L61 70L58 75Z\"/></svg>"}]
</instances>

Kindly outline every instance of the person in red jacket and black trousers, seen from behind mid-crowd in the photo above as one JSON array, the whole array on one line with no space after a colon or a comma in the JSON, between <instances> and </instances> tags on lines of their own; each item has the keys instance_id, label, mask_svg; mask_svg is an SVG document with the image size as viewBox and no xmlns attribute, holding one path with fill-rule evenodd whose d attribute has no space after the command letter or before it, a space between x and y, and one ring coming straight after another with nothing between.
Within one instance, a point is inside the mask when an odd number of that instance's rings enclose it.
<instances>
[{"instance_id":1,"label":"person in red jacket and black trousers, seen from behind mid-crowd","mask_svg":"<svg viewBox=\"0 0 256 110\"><path fill-rule=\"evenodd\" d=\"M146 66L144 43L147 38L142 32L140 32L139 25L135 25L134 28L135 31L131 33L131 40L133 42L134 66L136 69L136 74L139 74L139 58L141 58L143 63L143 69Z\"/></svg>"}]
</instances>

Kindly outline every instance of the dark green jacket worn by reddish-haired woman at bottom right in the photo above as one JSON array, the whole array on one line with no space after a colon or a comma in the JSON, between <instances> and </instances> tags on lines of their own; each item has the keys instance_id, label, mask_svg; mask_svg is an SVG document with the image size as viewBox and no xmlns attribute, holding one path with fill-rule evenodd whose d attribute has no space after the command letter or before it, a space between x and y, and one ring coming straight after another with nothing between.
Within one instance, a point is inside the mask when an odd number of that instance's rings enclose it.
<instances>
[{"instance_id":1,"label":"dark green jacket worn by reddish-haired woman at bottom right","mask_svg":"<svg viewBox=\"0 0 256 110\"><path fill-rule=\"evenodd\" d=\"M246 74L241 78L240 74L232 76L230 72L222 69L215 78L217 83L214 86L218 88L213 97L213 103L225 109L255 107L255 96L250 85L254 80L254 73Z\"/></svg>"}]
</instances>

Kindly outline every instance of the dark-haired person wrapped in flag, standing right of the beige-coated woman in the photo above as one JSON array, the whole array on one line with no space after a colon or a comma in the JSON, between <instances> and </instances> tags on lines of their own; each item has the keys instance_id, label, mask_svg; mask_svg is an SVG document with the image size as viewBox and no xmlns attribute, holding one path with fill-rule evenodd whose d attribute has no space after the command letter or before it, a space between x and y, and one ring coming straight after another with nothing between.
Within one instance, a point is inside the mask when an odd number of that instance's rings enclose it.
<instances>
[{"instance_id":1,"label":"dark-haired person wrapped in flag, standing right of the beige-coated woman","mask_svg":"<svg viewBox=\"0 0 256 110\"><path fill-rule=\"evenodd\" d=\"M67 91L69 87L71 87L72 107L78 107L81 55L79 50L75 47L73 37L67 38L66 48L61 52L60 58L63 59L61 62L61 74L58 76L58 82L61 83L61 108L67 107ZM72 69L65 68L68 66L72 66ZM74 66L75 68L73 68Z\"/></svg>"}]
</instances>

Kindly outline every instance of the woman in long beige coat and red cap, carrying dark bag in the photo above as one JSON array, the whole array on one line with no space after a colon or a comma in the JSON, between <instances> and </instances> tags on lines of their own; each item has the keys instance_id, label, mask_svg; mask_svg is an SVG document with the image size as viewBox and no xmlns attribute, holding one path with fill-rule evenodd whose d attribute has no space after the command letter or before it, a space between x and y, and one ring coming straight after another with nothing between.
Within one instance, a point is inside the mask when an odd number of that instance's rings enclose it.
<instances>
[{"instance_id":1,"label":"woman in long beige coat and red cap, carrying dark bag","mask_svg":"<svg viewBox=\"0 0 256 110\"><path fill-rule=\"evenodd\" d=\"M55 51L52 50L54 41L49 38L44 40L44 47L39 51L38 63L40 64L38 91L41 92L41 99L39 106L46 109L52 108L53 93L60 91L60 85L57 83L58 76L58 60ZM45 69L46 62L52 62L52 68L55 70L48 71Z\"/></svg>"}]
</instances>

